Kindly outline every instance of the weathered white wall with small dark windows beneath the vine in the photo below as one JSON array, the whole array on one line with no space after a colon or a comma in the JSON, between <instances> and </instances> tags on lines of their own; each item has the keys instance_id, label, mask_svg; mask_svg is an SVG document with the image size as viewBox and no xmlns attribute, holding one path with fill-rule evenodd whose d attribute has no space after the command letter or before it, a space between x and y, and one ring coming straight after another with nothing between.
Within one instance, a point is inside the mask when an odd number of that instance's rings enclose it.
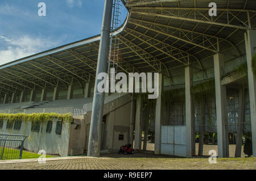
<instances>
[{"instance_id":1,"label":"weathered white wall with small dark windows beneath the vine","mask_svg":"<svg viewBox=\"0 0 256 181\"><path fill-rule=\"evenodd\" d=\"M20 130L6 129L7 120L3 121L3 127L0 132L24 134L28 137L24 141L24 149L38 153L39 150L45 150L46 154L56 154L60 156L68 155L70 123L64 123L61 134L55 133L57 119L51 119L52 131L46 132L47 122L41 124L39 132L31 131L31 122L22 121Z\"/></svg>"}]
</instances>

